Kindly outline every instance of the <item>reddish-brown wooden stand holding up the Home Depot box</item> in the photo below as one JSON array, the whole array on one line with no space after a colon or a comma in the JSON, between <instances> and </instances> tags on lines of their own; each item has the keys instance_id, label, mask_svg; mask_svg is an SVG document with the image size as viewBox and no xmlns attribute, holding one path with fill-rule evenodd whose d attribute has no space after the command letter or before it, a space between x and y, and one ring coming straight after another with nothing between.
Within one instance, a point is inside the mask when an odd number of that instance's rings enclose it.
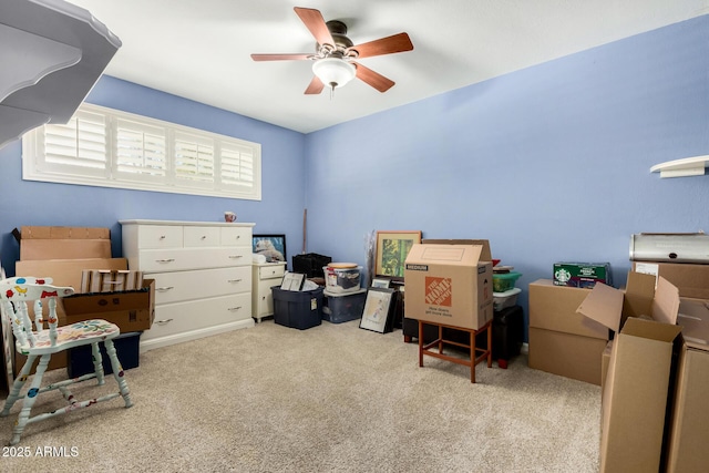
<instances>
[{"instance_id":1,"label":"reddish-brown wooden stand holding up the Home Depot box","mask_svg":"<svg viewBox=\"0 0 709 473\"><path fill-rule=\"evenodd\" d=\"M423 337L421 336L421 333L423 333L423 326L424 325L430 325L430 326L434 326L434 327L439 328L439 337L435 340L433 340L433 341L431 341L429 343L424 343L423 342ZM487 323L485 323L484 326L482 326L479 329L469 329L469 328L463 328L463 327L454 327L454 326L448 326L448 325L444 325L444 323L436 323L436 322L429 322L429 321L419 320L419 367L423 367L423 356L424 354L428 354L429 357L440 358L442 360L451 361L453 363L458 363L458 364L463 364L463 366L470 367L470 382L475 382L475 366L477 363L480 363L484 359L487 359L487 368L492 367L492 330L491 330L491 327L492 327L492 320L487 321ZM460 343L460 342L453 341L453 340L445 340L443 338L443 329L444 328L461 330L461 331L465 331L465 332L470 333L470 343L465 345L465 343ZM483 331L487 332L487 347L484 348L484 349L475 347L475 336L477 333L480 333L480 332L483 332ZM455 347L470 349L470 359L459 358L459 357L451 357L449 354L443 354L443 347L445 345L451 345L451 346L455 346ZM435 350L436 347L438 347L438 350Z\"/></svg>"}]
</instances>

